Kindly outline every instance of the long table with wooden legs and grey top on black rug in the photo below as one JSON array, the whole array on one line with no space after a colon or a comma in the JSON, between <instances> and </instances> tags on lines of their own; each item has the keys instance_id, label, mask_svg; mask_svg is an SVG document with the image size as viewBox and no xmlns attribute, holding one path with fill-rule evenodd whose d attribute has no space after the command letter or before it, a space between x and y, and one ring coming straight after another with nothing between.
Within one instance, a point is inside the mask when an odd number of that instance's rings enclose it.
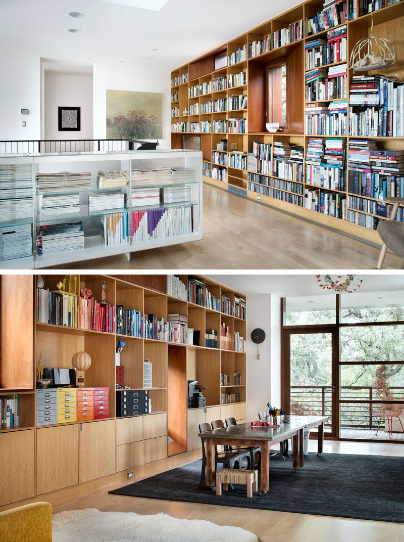
<instances>
[{"instance_id":1,"label":"long table with wooden legs and grey top on black rug","mask_svg":"<svg viewBox=\"0 0 404 542\"><path fill-rule=\"evenodd\" d=\"M303 467L303 435L304 430L318 427L318 452L323 450L324 422L328 416L284 416L279 427L254 427L250 423L231 425L214 429L203 434L206 447L206 485L213 487L216 483L216 446L240 446L243 448L261 448L260 494L269 490L269 449L273 444L292 439L292 472L296 473Z\"/></svg>"}]
</instances>

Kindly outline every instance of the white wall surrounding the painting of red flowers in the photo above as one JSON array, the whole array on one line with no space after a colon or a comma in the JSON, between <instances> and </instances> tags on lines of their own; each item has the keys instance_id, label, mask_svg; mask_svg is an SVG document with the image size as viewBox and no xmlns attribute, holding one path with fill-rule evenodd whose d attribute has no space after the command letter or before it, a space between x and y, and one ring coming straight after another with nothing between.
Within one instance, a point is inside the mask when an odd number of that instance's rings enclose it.
<instances>
[{"instance_id":1,"label":"white wall surrounding the painting of red flowers","mask_svg":"<svg viewBox=\"0 0 404 542\"><path fill-rule=\"evenodd\" d=\"M163 139L160 149L170 149L170 72L155 67L122 64L94 64L94 137L106 137L109 91L160 92L163 97Z\"/></svg>"}]
</instances>

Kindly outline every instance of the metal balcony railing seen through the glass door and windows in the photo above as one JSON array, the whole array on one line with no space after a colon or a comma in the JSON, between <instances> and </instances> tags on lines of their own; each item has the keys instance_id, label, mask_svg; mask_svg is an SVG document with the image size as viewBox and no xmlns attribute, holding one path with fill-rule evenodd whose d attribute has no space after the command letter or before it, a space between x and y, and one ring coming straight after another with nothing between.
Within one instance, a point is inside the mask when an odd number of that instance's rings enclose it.
<instances>
[{"instance_id":1,"label":"metal balcony railing seen through the glass door and windows","mask_svg":"<svg viewBox=\"0 0 404 542\"><path fill-rule=\"evenodd\" d=\"M404 400L404 386L390 386L394 399ZM295 405L296 414L303 413L329 416L326 426L331 426L331 386L290 386L291 411ZM381 403L343 403L344 401L375 401L372 386L341 386L340 427L343 429L377 429L381 417ZM384 427L384 418L380 427Z\"/></svg>"}]
</instances>

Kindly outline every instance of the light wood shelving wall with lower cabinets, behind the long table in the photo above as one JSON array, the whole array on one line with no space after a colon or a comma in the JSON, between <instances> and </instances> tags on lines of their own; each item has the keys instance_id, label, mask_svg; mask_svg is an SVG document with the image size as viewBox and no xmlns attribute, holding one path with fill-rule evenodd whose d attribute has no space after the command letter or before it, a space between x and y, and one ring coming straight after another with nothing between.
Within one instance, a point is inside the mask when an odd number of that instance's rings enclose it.
<instances>
[{"instance_id":1,"label":"light wood shelving wall with lower cabinets, behind the long table","mask_svg":"<svg viewBox=\"0 0 404 542\"><path fill-rule=\"evenodd\" d=\"M187 275L178 277L187 284ZM44 288L51 291L63 280L62 275L43 274L42 278ZM234 293L245 300L243 294L203 276L192 278L219 299L225 293L233 305ZM205 330L216 329L219 341L224 321L232 333L237 331L245 338L244 319L205 308L205 299L200 306L167 295L166 275L156 279L154 275L83 274L77 276L76 295L80 289L89 288L101 301L105 282L110 305L123 304L125 309L157 314L165 321L170 313L186 314L188 325L200 331L200 346L44 324L35 322L35 280L31 275L0 278L0 398L14 393L19 396L19 426L0 429L0 456L8 464L0 475L0 486L6 488L0 495L0 506L196 450L200 448L200 422L196 420L210 422L220 416L223 420L229 416L245 420L246 354L220 350L219 342L216 349L204 346ZM13 307L12 314L8 307ZM126 343L120 354L126 386L142 389L143 360L152 361L151 414L115 416L115 349L119 338ZM77 351L85 351L92 358L86 385L109 387L109 417L37 426L34 383L40 354L45 368L67 369ZM14 371L14 366L19 370ZM242 385L221 387L221 371L231 378L234 371L241 373ZM206 408L187 408L188 379L199 380L206 388ZM224 391L240 393L240 402L220 405Z\"/></svg>"}]
</instances>

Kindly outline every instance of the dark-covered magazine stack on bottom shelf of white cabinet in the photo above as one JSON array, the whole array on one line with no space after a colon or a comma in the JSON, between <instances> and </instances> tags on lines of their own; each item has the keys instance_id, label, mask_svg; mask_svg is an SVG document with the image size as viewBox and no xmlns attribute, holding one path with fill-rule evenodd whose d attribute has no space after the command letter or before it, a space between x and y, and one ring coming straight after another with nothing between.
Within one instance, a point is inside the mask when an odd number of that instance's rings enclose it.
<instances>
[{"instance_id":1,"label":"dark-covered magazine stack on bottom shelf of white cabinet","mask_svg":"<svg viewBox=\"0 0 404 542\"><path fill-rule=\"evenodd\" d=\"M81 222L41 225L36 235L38 256L84 249L84 231Z\"/></svg>"}]
</instances>

